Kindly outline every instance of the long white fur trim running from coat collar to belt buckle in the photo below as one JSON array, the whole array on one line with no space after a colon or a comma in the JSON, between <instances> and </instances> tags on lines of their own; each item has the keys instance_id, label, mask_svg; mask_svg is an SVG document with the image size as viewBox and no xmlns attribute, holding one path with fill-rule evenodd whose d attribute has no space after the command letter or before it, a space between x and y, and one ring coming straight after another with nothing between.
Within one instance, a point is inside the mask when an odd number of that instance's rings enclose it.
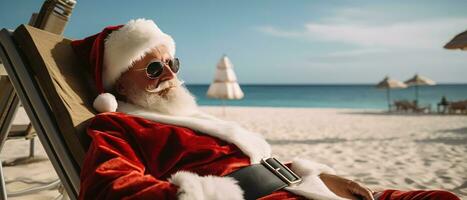
<instances>
[{"instance_id":1,"label":"long white fur trim running from coat collar to belt buckle","mask_svg":"<svg viewBox=\"0 0 467 200\"><path fill-rule=\"evenodd\" d=\"M122 101L118 102L118 111L161 123L187 127L233 143L250 158L251 164L259 163L262 158L271 157L271 147L260 134L248 131L237 123L220 120L200 111L189 116L163 115Z\"/></svg>"}]
</instances>

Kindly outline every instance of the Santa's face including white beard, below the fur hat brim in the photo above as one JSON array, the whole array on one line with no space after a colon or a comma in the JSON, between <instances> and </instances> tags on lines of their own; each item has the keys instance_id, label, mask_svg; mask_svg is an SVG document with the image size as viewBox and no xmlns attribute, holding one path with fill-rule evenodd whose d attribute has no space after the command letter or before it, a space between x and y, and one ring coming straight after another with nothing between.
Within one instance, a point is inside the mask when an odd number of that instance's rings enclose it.
<instances>
[{"instance_id":1,"label":"Santa's face including white beard, below the fur hat brim","mask_svg":"<svg viewBox=\"0 0 467 200\"><path fill-rule=\"evenodd\" d=\"M168 63L173 59L165 46L158 46L133 63L116 84L117 92L129 103L164 114L184 115L196 110L196 102L167 64L158 76L146 68L152 62Z\"/></svg>"}]
</instances>

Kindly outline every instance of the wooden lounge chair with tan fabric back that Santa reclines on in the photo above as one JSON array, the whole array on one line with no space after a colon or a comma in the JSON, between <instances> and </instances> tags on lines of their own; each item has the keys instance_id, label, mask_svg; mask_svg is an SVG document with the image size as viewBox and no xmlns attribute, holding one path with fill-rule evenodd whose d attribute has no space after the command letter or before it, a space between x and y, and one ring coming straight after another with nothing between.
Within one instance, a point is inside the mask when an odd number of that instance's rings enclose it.
<instances>
[{"instance_id":1,"label":"wooden lounge chair with tan fabric back that Santa reclines on","mask_svg":"<svg viewBox=\"0 0 467 200\"><path fill-rule=\"evenodd\" d=\"M28 25L0 31L0 56L9 78L68 196L76 199L90 142L84 130L95 115L96 91L70 42ZM0 188L6 198L1 183Z\"/></svg>"}]
</instances>

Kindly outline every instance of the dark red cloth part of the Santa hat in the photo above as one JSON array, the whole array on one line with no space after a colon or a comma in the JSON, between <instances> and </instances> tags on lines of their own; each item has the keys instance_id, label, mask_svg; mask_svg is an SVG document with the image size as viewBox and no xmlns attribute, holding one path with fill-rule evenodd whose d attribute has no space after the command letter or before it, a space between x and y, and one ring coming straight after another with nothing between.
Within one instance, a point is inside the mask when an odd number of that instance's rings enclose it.
<instances>
[{"instance_id":1,"label":"dark red cloth part of the Santa hat","mask_svg":"<svg viewBox=\"0 0 467 200\"><path fill-rule=\"evenodd\" d=\"M80 60L86 61L87 66L91 67L89 71L94 75L94 81L99 93L105 92L102 82L105 39L112 31L118 30L122 26L108 26L100 33L71 42L71 47L76 55L78 55Z\"/></svg>"}]
</instances>

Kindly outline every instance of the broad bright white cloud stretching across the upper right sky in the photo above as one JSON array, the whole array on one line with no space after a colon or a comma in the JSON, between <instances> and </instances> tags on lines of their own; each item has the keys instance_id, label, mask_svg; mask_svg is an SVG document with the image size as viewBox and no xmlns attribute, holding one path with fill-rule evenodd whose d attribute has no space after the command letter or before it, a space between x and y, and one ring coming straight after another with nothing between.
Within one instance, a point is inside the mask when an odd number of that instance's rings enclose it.
<instances>
[{"instance_id":1,"label":"broad bright white cloud stretching across the upper right sky","mask_svg":"<svg viewBox=\"0 0 467 200\"><path fill-rule=\"evenodd\" d=\"M258 30L276 37L302 38L311 42L351 44L366 48L440 48L455 34L465 30L467 18L399 21L365 24L361 20L310 22L300 31L272 26Z\"/></svg>"}]
</instances>

